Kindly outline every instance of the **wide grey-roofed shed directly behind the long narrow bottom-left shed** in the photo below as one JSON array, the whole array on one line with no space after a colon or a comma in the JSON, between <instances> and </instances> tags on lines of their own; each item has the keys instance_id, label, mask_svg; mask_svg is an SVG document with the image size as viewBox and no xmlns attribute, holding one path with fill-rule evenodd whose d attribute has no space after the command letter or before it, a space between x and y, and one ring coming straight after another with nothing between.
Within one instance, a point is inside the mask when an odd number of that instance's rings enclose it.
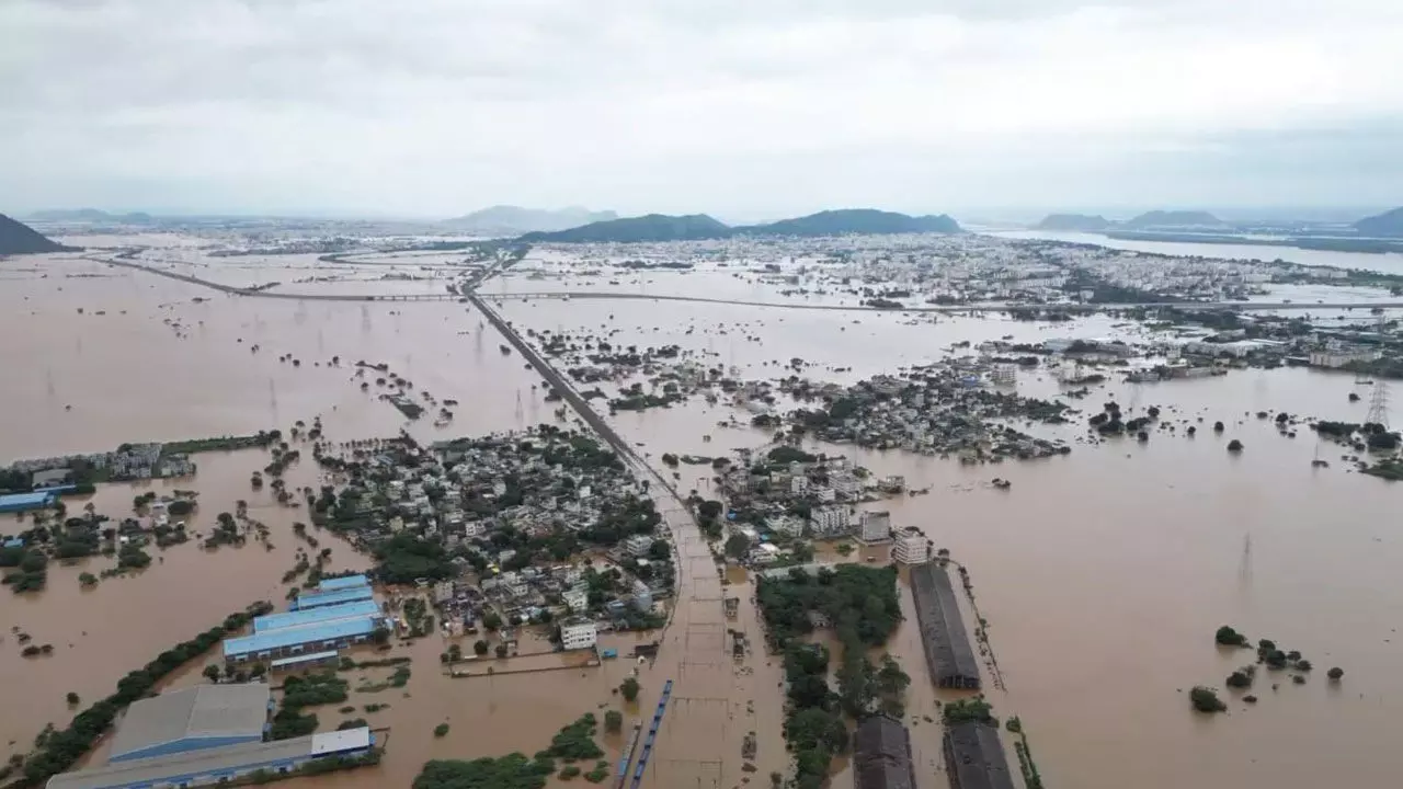
<instances>
[{"instance_id":1,"label":"wide grey-roofed shed directly behind the long narrow bottom-left shed","mask_svg":"<svg viewBox=\"0 0 1403 789\"><path fill-rule=\"evenodd\" d=\"M262 740L268 685L199 685L133 702L116 724L111 762Z\"/></svg>"}]
</instances>

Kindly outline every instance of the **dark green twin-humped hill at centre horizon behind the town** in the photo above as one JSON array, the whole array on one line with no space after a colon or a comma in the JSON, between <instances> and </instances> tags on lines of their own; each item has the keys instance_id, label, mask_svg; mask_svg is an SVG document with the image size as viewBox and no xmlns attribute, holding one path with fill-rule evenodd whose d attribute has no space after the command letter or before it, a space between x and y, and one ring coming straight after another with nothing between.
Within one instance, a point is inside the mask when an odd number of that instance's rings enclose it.
<instances>
[{"instance_id":1,"label":"dark green twin-humped hill at centre horizon behind the town","mask_svg":"<svg viewBox=\"0 0 1403 789\"><path fill-rule=\"evenodd\" d=\"M824 211L797 219L784 219L769 225L731 227L704 213L690 216L668 216L650 213L630 219L595 222L556 233L526 233L523 241L686 241L707 239L728 239L745 236L847 236L882 233L961 233L954 219L939 216L908 216L888 211L853 208Z\"/></svg>"}]
</instances>

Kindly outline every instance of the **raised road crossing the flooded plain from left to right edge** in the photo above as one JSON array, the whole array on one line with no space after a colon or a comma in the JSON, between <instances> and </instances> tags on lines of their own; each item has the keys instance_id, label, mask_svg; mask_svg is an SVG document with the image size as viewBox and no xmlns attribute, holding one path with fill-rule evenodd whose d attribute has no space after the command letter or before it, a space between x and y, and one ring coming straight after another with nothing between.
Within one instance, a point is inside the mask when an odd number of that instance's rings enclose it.
<instances>
[{"instance_id":1,"label":"raised road crossing the flooded plain from left to right edge","mask_svg":"<svg viewBox=\"0 0 1403 789\"><path fill-rule=\"evenodd\" d=\"M201 285L219 291L222 293L230 293L234 296L255 296L261 299L307 299L307 300L323 300L323 302L457 302L464 299L464 296L457 293L372 293L372 295L334 295L334 293L285 293L278 291L257 291L253 288L239 288L234 285L224 285L223 282L213 282L210 279L202 279L191 274L178 274L175 271L167 271L164 268L156 268L153 265L146 265L142 263L133 263L130 260L121 258L88 258L97 263L105 263L108 265L119 265L123 268L133 268L137 271L145 271L147 274L156 274L159 277L167 277L170 279L178 279L181 282L188 282L191 285ZM488 268L478 272L473 282L469 284L469 291L477 282L490 278L497 271ZM508 302L512 299L606 299L606 300L654 300L654 302L694 302L703 305L734 305L745 307L769 307L769 309L801 309L801 310L826 310L826 312L919 312L919 313L971 313L971 312L1042 312L1042 310L1056 310L1056 312L1113 312L1125 310L1135 307L1177 307L1184 310L1211 310L1211 309L1233 309L1233 310L1313 310L1313 309L1400 309L1403 307L1403 300L1397 302L1143 302L1143 303L1114 303L1114 305L932 305L919 307L902 307L902 309L881 309L868 307L861 305L804 305L804 303L787 303L787 302L751 302L744 299L713 299L706 296L671 296L671 295L648 295L648 293L609 293L609 292L570 292L570 291L537 291L530 293L477 293L483 299L492 302Z\"/></svg>"}]
</instances>

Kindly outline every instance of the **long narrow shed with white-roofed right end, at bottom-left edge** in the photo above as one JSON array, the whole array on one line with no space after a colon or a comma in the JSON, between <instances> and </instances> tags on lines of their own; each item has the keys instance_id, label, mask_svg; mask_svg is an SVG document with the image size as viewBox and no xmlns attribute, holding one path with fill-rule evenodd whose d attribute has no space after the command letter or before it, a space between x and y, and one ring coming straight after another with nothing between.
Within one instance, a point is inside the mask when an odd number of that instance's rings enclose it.
<instances>
[{"instance_id":1,"label":"long narrow shed with white-roofed right end, at bottom-left edge","mask_svg":"<svg viewBox=\"0 0 1403 789\"><path fill-rule=\"evenodd\" d=\"M236 781L260 769L282 774L318 758L358 757L373 745L375 737L370 729L327 731L292 740L246 743L65 772L51 778L46 789L208 786Z\"/></svg>"}]
</instances>

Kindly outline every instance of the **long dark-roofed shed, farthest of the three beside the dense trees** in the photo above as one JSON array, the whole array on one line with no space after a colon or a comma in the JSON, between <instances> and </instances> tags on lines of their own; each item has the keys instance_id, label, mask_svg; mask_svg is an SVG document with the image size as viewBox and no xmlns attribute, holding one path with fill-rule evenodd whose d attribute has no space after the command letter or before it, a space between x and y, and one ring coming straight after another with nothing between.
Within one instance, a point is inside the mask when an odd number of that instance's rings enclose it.
<instances>
[{"instance_id":1,"label":"long dark-roofed shed, farthest of the three beside the dense trees","mask_svg":"<svg viewBox=\"0 0 1403 789\"><path fill-rule=\"evenodd\" d=\"M930 681L937 688L978 691L979 660L969 646L969 633L960 616L960 598L944 567L913 566L911 594L916 601L916 619L920 623L920 642L926 651Z\"/></svg>"}]
</instances>

